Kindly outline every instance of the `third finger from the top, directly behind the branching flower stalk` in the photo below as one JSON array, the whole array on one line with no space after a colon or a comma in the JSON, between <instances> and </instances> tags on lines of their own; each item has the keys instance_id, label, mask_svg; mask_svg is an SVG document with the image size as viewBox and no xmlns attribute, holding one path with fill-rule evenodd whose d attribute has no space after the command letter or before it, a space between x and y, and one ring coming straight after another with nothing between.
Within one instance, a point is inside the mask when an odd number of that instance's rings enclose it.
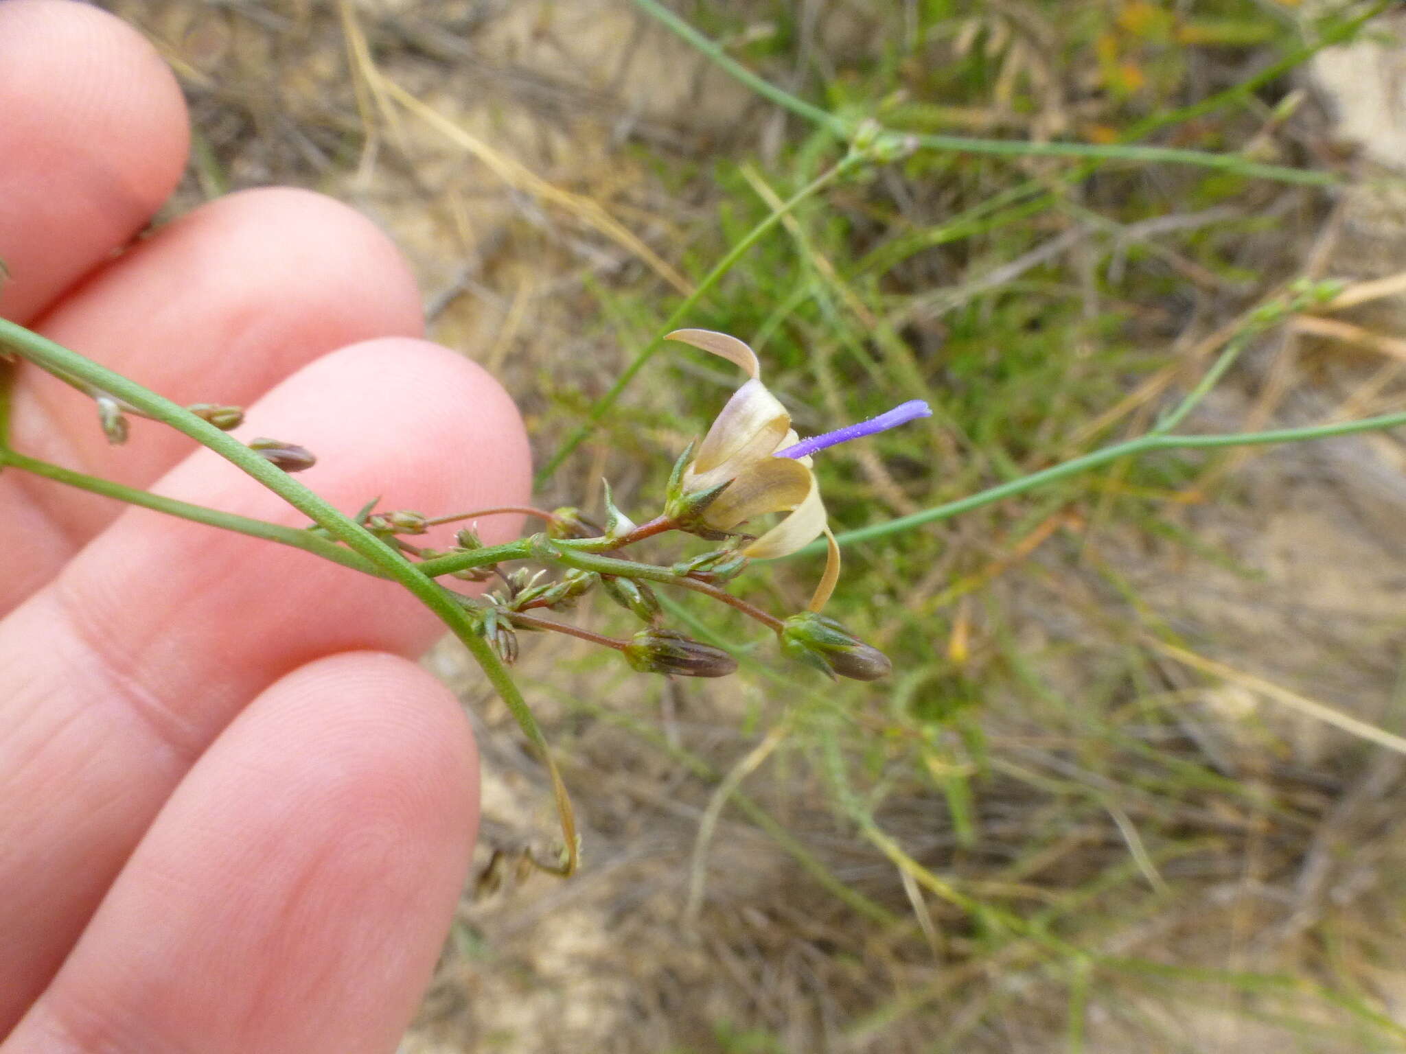
<instances>
[{"instance_id":1,"label":"third finger from the top, directly behind the branching flower stalk","mask_svg":"<svg viewBox=\"0 0 1406 1054\"><path fill-rule=\"evenodd\" d=\"M419 340L357 344L250 409L305 443L343 510L520 503L522 422L478 367ZM163 493L256 519L299 513L209 451ZM485 541L516 517L484 521ZM444 537L429 544L443 545ZM284 672L349 649L418 655L443 627L405 590L311 554L131 509L0 623L0 1034L37 995L162 801Z\"/></svg>"}]
</instances>

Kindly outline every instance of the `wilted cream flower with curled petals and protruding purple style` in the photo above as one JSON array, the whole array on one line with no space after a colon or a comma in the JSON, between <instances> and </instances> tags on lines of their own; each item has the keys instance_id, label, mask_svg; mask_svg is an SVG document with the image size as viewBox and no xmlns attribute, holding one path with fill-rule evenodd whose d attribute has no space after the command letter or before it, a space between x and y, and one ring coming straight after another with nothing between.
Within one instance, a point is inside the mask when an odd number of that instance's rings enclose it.
<instances>
[{"instance_id":1,"label":"wilted cream flower with curled petals and protruding purple style","mask_svg":"<svg viewBox=\"0 0 1406 1054\"><path fill-rule=\"evenodd\" d=\"M811 472L810 454L925 417L932 410L915 399L873 420L801 441L792 429L790 413L762 384L761 365L751 347L707 329L679 329L666 339L721 356L748 374L748 381L728 399L683 469L681 493L703 495L727 485L696 514L697 523L713 531L731 531L766 513L789 513L741 549L752 559L789 557L824 534L830 544L825 573L810 601L810 609L818 611L839 576L839 547L825 524L825 506Z\"/></svg>"}]
</instances>

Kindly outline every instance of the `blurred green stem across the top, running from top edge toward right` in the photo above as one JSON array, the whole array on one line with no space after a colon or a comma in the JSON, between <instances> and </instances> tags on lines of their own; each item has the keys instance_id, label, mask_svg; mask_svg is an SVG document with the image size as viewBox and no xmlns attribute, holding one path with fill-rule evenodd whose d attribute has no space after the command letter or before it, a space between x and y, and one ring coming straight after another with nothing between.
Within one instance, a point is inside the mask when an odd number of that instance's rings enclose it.
<instances>
[{"instance_id":1,"label":"blurred green stem across the top, running from top edge toward right","mask_svg":"<svg viewBox=\"0 0 1406 1054\"><path fill-rule=\"evenodd\" d=\"M721 69L728 76L740 80L742 84L749 87L752 91L769 98L793 114L804 117L807 121L813 121L823 128L828 128L841 138L851 138L858 126L858 122L849 122L837 114L827 110L821 110L803 98L797 98L790 91L772 84L770 82L756 76L740 62L733 59L716 41L710 39L704 34L695 30L679 15L669 11L658 0L634 0L636 7L643 10L647 15L668 27L678 37L688 41L695 49L702 52L710 62L713 62L718 69ZM901 132L893 132L891 129L884 129L889 135L901 135ZM1018 157L1097 157L1101 160L1125 160L1125 162L1152 162L1152 163L1171 163L1171 164L1195 164L1206 169L1220 169L1226 171L1234 171L1240 176L1257 177L1265 180L1278 180L1281 183L1301 183L1309 186L1334 186L1341 180L1331 173L1313 171L1306 169L1288 169L1279 164L1260 164L1257 162L1249 162L1240 155L1234 153L1208 153L1204 150L1185 150L1177 148L1166 146L1136 146L1130 143L1070 143L1070 142L1047 142L1035 143L1026 141L1015 139L974 139L969 136L959 135L918 135L914 136L914 142L920 146L932 150L950 150L959 153L983 153L995 156L1018 156Z\"/></svg>"}]
</instances>

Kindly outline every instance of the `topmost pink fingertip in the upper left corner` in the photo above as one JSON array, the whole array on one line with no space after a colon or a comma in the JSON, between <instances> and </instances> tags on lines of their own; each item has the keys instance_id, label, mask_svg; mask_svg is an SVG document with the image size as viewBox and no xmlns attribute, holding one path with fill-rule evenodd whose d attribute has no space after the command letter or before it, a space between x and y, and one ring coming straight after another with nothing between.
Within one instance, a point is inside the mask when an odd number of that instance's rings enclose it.
<instances>
[{"instance_id":1,"label":"topmost pink fingertip in the upper left corner","mask_svg":"<svg viewBox=\"0 0 1406 1054\"><path fill-rule=\"evenodd\" d=\"M166 201L188 121L141 34L67 0L0 3L0 315L28 322Z\"/></svg>"}]
</instances>

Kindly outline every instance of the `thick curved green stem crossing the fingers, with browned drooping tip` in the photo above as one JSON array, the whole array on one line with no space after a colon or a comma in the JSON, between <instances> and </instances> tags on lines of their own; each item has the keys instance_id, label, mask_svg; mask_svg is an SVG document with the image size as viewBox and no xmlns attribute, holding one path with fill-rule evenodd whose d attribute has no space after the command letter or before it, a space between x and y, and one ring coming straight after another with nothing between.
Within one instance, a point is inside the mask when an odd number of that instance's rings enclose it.
<instances>
[{"instance_id":1,"label":"thick curved green stem crossing the fingers, with browned drooping tip","mask_svg":"<svg viewBox=\"0 0 1406 1054\"><path fill-rule=\"evenodd\" d=\"M201 445L209 447L236 468L242 469L276 495L283 497L298 512L326 530L337 540L373 564L387 578L405 586L422 604L433 611L453 631L453 634L468 648L470 653L484 669L485 676L494 689L503 698L503 703L517 718L523 732L531 743L541 752L543 760L553 780L557 795L557 805L561 812L562 835L567 840L565 861L561 871L571 873L578 861L579 847L576 845L575 819L571 812L571 802L565 794L565 786L557 770L555 762L547 749L547 741L537 727L531 710L517 690L503 663L494 653L494 649L478 634L470 616L447 596L444 590L423 571L391 548L385 541L368 531L361 524L344 516L329 502L323 500L281 468L260 457L232 436L209 424L201 417L187 410L170 399L166 399L142 385L129 381L121 374L94 363L76 351L48 340L22 326L6 319L0 319L0 343L13 347L25 358L30 358L46 368L60 370L110 392L118 399L129 402L136 409L149 415L177 431L190 436Z\"/></svg>"}]
</instances>

